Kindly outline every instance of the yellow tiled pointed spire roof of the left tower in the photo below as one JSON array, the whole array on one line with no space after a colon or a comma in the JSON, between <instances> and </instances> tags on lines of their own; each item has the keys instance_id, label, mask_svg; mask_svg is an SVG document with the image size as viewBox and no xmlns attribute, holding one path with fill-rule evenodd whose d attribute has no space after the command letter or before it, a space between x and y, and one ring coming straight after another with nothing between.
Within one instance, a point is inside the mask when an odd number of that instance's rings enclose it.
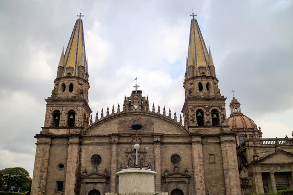
<instances>
[{"instance_id":1,"label":"yellow tiled pointed spire roof of the left tower","mask_svg":"<svg viewBox=\"0 0 293 195\"><path fill-rule=\"evenodd\" d=\"M81 17L83 15L80 13L78 15L79 19L76 20L73 31L71 33L71 37L69 39L64 58L63 60L63 77L67 76L66 69L70 68L73 69L72 71L72 77L80 77L86 79L86 73L87 73L87 59L85 56L85 47L84 47L84 25L83 20ZM59 64L59 66L61 66ZM84 71L81 75L79 75L79 67L82 66L84 68Z\"/></svg>"}]
</instances>

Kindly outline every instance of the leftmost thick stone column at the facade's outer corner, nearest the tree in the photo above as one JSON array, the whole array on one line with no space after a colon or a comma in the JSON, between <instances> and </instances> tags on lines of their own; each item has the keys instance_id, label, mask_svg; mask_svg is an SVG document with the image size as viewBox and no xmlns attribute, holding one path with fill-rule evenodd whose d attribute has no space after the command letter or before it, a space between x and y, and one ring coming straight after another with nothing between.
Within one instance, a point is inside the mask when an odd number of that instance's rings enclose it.
<instances>
[{"instance_id":1,"label":"leftmost thick stone column at the facade's outer corner, nearest the tree","mask_svg":"<svg viewBox=\"0 0 293 195\"><path fill-rule=\"evenodd\" d=\"M38 137L31 195L45 194L50 144L51 137Z\"/></svg>"}]
</instances>

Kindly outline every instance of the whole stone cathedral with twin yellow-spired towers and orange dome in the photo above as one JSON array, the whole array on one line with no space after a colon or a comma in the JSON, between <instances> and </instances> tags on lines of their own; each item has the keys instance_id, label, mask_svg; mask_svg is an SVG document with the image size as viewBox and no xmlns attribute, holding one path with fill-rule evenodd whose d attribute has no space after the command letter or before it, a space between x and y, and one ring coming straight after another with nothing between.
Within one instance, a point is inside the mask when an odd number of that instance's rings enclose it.
<instances>
[{"instance_id":1,"label":"whole stone cathedral with twin yellow-spired towers and orange dome","mask_svg":"<svg viewBox=\"0 0 293 195\"><path fill-rule=\"evenodd\" d=\"M211 52L193 14L183 115L174 113L172 118L165 107L155 112L149 103L151 97L143 95L136 85L128 97L121 97L124 103L121 107L118 104L117 112L113 106L93 119L81 16L66 50L63 48L51 97L45 99L44 126L35 136L32 195L115 193L119 181L116 173L136 165L157 172L155 191L170 195L274 192L278 178L288 181L282 189L293 186L292 139L272 139L266 144L260 128L241 113L235 98L227 118L226 98L218 87ZM136 132L131 124L137 120L143 128ZM138 151L132 141L136 134ZM278 156L284 160L278 161ZM272 162L274 172L267 162L273 159L280 163ZM275 172L283 175L273 177Z\"/></svg>"}]
</instances>

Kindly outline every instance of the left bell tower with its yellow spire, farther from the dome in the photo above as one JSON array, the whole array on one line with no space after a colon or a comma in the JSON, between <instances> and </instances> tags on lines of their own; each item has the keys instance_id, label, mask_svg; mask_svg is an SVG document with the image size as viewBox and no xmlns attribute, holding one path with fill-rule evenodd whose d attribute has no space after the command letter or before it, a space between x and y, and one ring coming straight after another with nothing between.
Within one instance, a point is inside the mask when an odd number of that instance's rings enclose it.
<instances>
[{"instance_id":1,"label":"left bell tower with its yellow spire, farther from the dome","mask_svg":"<svg viewBox=\"0 0 293 195\"><path fill-rule=\"evenodd\" d=\"M85 56L84 26L76 20L66 51L63 51L54 80L51 97L46 99L44 129L59 134L57 129L78 129L89 125L91 109L88 105L88 67ZM55 130L54 130L55 129ZM63 132L64 133L64 132Z\"/></svg>"}]
</instances>

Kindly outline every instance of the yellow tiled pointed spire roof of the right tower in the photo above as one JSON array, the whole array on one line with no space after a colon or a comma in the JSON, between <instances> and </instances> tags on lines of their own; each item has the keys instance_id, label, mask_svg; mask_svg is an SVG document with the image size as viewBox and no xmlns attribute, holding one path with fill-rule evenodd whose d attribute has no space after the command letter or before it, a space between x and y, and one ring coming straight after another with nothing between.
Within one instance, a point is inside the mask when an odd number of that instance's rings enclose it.
<instances>
[{"instance_id":1,"label":"yellow tiled pointed spire roof of the right tower","mask_svg":"<svg viewBox=\"0 0 293 195\"><path fill-rule=\"evenodd\" d=\"M204 38L201 34L197 20L192 13L190 23L189 44L188 44L188 57L187 57L187 70L194 71L192 76L211 76L209 66L213 66L210 50L208 52ZM192 66L192 68L190 68Z\"/></svg>"}]
</instances>

